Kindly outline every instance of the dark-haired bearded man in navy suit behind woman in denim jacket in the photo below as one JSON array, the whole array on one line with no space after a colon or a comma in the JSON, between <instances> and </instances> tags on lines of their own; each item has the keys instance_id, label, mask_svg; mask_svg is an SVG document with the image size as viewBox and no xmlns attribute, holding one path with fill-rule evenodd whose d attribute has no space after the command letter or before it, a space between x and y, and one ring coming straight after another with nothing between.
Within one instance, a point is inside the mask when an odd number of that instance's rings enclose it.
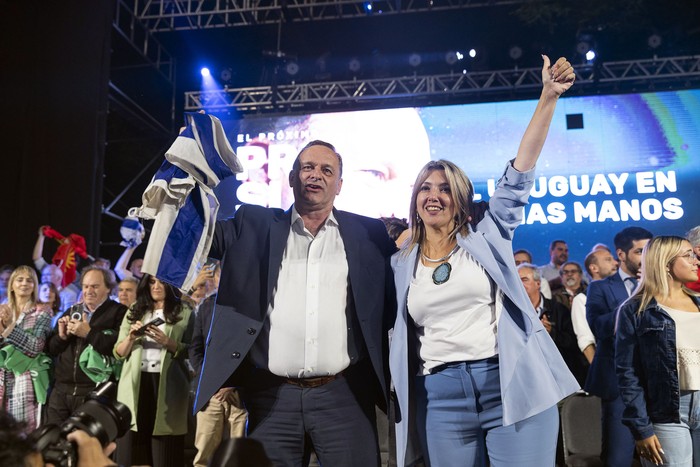
<instances>
[{"instance_id":1,"label":"dark-haired bearded man in navy suit behind woman in denim jacket","mask_svg":"<svg viewBox=\"0 0 700 467\"><path fill-rule=\"evenodd\" d=\"M615 318L617 307L627 300L637 286L642 249L651 238L651 232L641 227L621 230L615 235L615 249L620 263L617 273L593 281L588 286L586 320L596 339L596 351L588 370L585 389L601 398L601 457L607 466L631 465L634 456L634 438L622 424L624 404L615 373Z\"/></svg>"}]
</instances>

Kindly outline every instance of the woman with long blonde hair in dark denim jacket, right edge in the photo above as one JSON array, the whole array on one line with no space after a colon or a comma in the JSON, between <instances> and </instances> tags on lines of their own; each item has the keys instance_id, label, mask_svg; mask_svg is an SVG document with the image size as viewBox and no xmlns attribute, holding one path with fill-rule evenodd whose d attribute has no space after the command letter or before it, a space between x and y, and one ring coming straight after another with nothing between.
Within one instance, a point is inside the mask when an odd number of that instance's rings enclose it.
<instances>
[{"instance_id":1,"label":"woman with long blonde hair in dark denim jacket, right edge","mask_svg":"<svg viewBox=\"0 0 700 467\"><path fill-rule=\"evenodd\" d=\"M618 310L622 421L644 466L700 466L700 296L684 285L697 273L686 239L653 238L639 286Z\"/></svg>"}]
</instances>

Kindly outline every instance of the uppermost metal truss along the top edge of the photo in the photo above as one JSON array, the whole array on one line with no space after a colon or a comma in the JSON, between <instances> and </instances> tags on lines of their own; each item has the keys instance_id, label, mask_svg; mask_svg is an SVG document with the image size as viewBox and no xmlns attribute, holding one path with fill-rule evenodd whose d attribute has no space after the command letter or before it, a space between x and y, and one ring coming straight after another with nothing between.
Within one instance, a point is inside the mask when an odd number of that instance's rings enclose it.
<instances>
[{"instance_id":1,"label":"uppermost metal truss along the top edge of the photo","mask_svg":"<svg viewBox=\"0 0 700 467\"><path fill-rule=\"evenodd\" d=\"M523 3L525 0L129 0L151 31L358 18ZM371 9L368 9L371 5Z\"/></svg>"}]
</instances>

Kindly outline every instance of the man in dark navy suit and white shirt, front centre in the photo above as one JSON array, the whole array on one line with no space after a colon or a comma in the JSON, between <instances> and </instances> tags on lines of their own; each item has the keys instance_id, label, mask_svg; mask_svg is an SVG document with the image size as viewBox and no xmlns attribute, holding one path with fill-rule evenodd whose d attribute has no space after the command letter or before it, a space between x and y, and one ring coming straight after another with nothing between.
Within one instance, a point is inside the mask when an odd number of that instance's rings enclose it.
<instances>
[{"instance_id":1,"label":"man in dark navy suit and white shirt, front centre","mask_svg":"<svg viewBox=\"0 0 700 467\"><path fill-rule=\"evenodd\" d=\"M242 206L216 225L222 274L195 409L236 386L248 436L276 466L302 465L306 438L323 465L376 466L396 247L380 221L333 208L332 145L302 149L289 184L290 210Z\"/></svg>"}]
</instances>

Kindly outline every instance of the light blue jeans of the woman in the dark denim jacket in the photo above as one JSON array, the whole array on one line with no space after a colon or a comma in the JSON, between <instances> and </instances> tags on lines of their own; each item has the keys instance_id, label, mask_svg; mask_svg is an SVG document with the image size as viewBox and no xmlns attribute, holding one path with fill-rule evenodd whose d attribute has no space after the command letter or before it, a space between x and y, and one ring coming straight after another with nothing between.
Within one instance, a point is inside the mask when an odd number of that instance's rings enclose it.
<instances>
[{"instance_id":1,"label":"light blue jeans of the woman in the dark denim jacket","mask_svg":"<svg viewBox=\"0 0 700 467\"><path fill-rule=\"evenodd\" d=\"M700 467L700 391L682 391L680 423L654 423L664 467ZM642 465L655 466L642 459Z\"/></svg>"}]
</instances>

